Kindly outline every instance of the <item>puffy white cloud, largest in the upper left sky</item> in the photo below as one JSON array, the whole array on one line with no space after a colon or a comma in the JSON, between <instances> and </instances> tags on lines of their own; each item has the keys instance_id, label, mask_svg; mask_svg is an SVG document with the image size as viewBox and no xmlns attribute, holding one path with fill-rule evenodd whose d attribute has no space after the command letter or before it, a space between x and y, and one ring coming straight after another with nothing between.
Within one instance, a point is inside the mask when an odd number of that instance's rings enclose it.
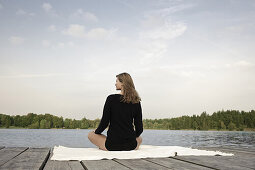
<instances>
[{"instance_id":1,"label":"puffy white cloud, largest in the upper left sky","mask_svg":"<svg viewBox=\"0 0 255 170\"><path fill-rule=\"evenodd\" d=\"M79 24L71 24L69 27L62 31L65 35L70 35L73 37L78 38L88 38L88 39L105 39L111 38L111 36L117 31L118 29L105 29L105 28L93 28L85 31L85 27Z\"/></svg>"}]
</instances>

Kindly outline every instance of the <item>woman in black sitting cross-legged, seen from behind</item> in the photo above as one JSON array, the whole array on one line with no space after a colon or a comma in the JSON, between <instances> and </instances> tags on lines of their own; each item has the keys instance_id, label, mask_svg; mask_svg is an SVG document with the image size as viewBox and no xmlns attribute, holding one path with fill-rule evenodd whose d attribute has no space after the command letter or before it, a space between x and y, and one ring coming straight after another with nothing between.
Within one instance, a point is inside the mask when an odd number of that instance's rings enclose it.
<instances>
[{"instance_id":1,"label":"woman in black sitting cross-legged, seen from behind","mask_svg":"<svg viewBox=\"0 0 255 170\"><path fill-rule=\"evenodd\" d=\"M143 132L141 98L128 73L116 75L116 90L120 94L107 97L98 128L88 134L89 140L105 151L137 150ZM135 125L135 130L133 126ZM101 134L108 124L107 136Z\"/></svg>"}]
</instances>

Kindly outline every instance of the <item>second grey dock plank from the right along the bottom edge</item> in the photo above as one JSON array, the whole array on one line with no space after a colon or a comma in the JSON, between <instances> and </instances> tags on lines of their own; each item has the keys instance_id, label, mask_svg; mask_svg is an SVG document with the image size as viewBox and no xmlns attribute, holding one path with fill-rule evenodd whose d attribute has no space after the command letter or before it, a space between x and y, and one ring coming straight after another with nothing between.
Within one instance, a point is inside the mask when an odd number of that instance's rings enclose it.
<instances>
[{"instance_id":1,"label":"second grey dock plank from the right along the bottom edge","mask_svg":"<svg viewBox=\"0 0 255 170\"><path fill-rule=\"evenodd\" d=\"M176 170L179 170L179 169L182 169L182 170L193 170L193 169L209 170L209 169L211 169L211 168L195 165L192 163L172 159L170 157L169 158L143 158L143 159L146 159L147 161L154 162L154 163L157 163L160 165L164 165L168 168L176 169Z\"/></svg>"}]
</instances>

